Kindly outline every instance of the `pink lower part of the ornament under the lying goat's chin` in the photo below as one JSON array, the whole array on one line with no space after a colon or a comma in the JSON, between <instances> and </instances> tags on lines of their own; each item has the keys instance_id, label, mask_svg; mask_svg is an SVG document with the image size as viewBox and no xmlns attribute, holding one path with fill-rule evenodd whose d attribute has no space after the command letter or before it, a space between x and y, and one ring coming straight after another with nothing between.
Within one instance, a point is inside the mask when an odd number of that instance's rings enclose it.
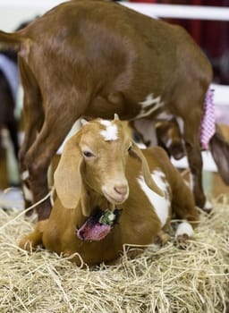
<instances>
[{"instance_id":1,"label":"pink lower part of the ornament under the lying goat's chin","mask_svg":"<svg viewBox=\"0 0 229 313\"><path fill-rule=\"evenodd\" d=\"M91 220L91 217L81 226L77 232L77 236L81 241L101 241L110 233L111 226L108 224L100 224Z\"/></svg>"}]
</instances>

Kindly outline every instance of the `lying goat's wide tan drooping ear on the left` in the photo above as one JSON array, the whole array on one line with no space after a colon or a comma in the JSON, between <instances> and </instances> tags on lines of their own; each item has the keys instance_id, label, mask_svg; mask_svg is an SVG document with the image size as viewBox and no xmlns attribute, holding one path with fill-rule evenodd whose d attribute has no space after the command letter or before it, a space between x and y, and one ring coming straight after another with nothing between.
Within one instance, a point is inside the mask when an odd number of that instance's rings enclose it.
<instances>
[{"instance_id":1,"label":"lying goat's wide tan drooping ear on the left","mask_svg":"<svg viewBox=\"0 0 229 313\"><path fill-rule=\"evenodd\" d=\"M81 162L81 151L73 136L66 141L54 174L55 190L64 207L75 208L81 199Z\"/></svg>"}]
</instances>

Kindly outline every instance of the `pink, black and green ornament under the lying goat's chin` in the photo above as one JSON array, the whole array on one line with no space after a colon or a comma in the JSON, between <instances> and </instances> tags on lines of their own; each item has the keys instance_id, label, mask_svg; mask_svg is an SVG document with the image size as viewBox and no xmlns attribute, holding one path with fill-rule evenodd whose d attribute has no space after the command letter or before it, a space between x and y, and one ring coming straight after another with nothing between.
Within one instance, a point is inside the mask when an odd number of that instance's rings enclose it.
<instances>
[{"instance_id":1,"label":"pink, black and green ornament under the lying goat's chin","mask_svg":"<svg viewBox=\"0 0 229 313\"><path fill-rule=\"evenodd\" d=\"M117 208L112 212L108 208L103 211L96 207L86 222L76 231L77 237L81 241L101 241L117 223L119 215Z\"/></svg>"}]
</instances>

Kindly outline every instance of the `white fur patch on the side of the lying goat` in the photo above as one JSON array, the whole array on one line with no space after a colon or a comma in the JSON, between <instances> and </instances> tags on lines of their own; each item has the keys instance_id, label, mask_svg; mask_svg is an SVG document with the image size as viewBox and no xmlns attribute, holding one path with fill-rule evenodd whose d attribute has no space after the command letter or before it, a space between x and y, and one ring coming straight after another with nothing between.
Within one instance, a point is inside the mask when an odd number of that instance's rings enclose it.
<instances>
[{"instance_id":1,"label":"white fur patch on the side of the lying goat","mask_svg":"<svg viewBox=\"0 0 229 313\"><path fill-rule=\"evenodd\" d=\"M163 172L157 170L151 173L151 175L157 183L157 186L164 191L165 197L161 197L156 192L151 190L144 181L142 175L138 178L138 182L140 183L141 190L145 192L149 202L154 207L162 226L164 226L169 215L170 207L169 185L168 182L165 181L165 174Z\"/></svg>"}]
</instances>

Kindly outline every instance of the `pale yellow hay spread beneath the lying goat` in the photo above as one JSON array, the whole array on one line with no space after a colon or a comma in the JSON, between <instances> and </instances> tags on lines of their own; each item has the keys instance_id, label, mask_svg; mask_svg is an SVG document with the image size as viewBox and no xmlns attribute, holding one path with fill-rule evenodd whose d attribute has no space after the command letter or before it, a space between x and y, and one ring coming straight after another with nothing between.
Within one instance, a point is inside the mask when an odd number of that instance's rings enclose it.
<instances>
[{"instance_id":1,"label":"pale yellow hay spread beneath the lying goat","mask_svg":"<svg viewBox=\"0 0 229 313\"><path fill-rule=\"evenodd\" d=\"M0 312L226 312L229 199L215 203L187 250L150 247L117 266L82 269L68 259L17 248L33 224L0 209ZM227 311L228 312L228 311Z\"/></svg>"}]
</instances>

